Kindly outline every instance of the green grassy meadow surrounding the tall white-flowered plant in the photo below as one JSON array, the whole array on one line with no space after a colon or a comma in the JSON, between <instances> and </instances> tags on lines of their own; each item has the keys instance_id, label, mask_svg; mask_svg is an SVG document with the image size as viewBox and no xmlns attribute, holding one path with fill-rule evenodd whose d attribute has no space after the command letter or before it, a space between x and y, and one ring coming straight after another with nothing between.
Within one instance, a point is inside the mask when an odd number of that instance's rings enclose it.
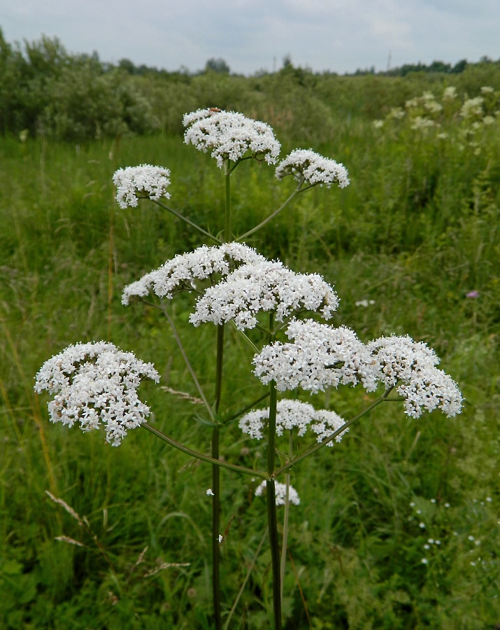
<instances>
[{"instance_id":1,"label":"green grassy meadow surrounding the tall white-flowered plant","mask_svg":"<svg viewBox=\"0 0 500 630\"><path fill-rule=\"evenodd\" d=\"M275 125L282 156L313 145L343 162L351 183L303 195L249 244L334 283L334 323L363 341L394 332L427 342L465 398L453 419L438 411L409 419L399 402L378 407L340 444L297 466L288 629L479 630L500 622L499 94L478 85L447 100L429 85L434 101L417 100L404 115L391 109L395 102L379 104L375 124L359 111L331 119L324 134L320 125L292 129L298 114L290 106ZM408 98L421 96L418 87ZM480 94L480 113L464 112ZM111 177L143 162L168 167L171 205L218 232L222 173L169 129L80 144L6 136L0 160L0 626L210 629L210 466L143 429L113 449L101 432L50 424L48 397L33 384L68 344L108 339L153 361L162 386L196 395L162 314L124 307L120 296L125 284L203 241L152 205L119 209ZM254 162L233 177L236 233L292 190ZM171 312L208 388L215 327L192 328L193 300L176 298ZM264 388L248 377L250 349L236 336L226 342L222 401L235 409ZM190 400L153 384L141 392L154 426L209 451L210 428ZM351 416L370 397L344 387L300 399ZM265 446L233 424L222 452L252 467ZM265 531L256 485L222 472L224 615ZM83 525L46 491L85 516ZM269 563L264 543L231 628L269 628Z\"/></svg>"}]
</instances>

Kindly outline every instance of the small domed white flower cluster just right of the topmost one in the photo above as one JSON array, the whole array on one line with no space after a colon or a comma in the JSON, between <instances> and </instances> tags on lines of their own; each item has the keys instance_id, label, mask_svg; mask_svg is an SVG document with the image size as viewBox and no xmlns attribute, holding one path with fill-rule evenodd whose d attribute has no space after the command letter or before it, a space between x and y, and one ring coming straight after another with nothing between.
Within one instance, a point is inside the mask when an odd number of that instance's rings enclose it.
<instances>
[{"instance_id":1,"label":"small domed white flower cluster just right of the topmost one","mask_svg":"<svg viewBox=\"0 0 500 630\"><path fill-rule=\"evenodd\" d=\"M310 186L324 185L330 188L335 181L339 188L349 185L348 172L342 164L310 149L295 149L280 162L276 168L276 177L283 179L287 175L293 175L298 181L303 179Z\"/></svg>"}]
</instances>

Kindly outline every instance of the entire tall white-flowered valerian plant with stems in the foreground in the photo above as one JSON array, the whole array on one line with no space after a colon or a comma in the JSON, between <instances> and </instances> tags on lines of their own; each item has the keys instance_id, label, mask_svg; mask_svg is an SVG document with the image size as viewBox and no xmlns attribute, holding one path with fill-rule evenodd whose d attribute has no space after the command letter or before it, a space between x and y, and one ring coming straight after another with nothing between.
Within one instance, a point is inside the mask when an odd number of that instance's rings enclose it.
<instances>
[{"instance_id":1,"label":"entire tall white-flowered valerian plant with stems in the foreground","mask_svg":"<svg viewBox=\"0 0 500 630\"><path fill-rule=\"evenodd\" d=\"M166 204L170 197L169 169L140 165L117 170L113 181L117 188L116 199L122 209L136 207L139 200L148 200L210 240L210 244L179 253L125 286L122 304L145 302L164 314L210 418L210 454L194 451L148 423L150 409L139 400L136 390L141 379L158 381L159 374L151 363L143 363L134 354L121 351L108 342L69 346L41 367L35 388L38 392L45 389L54 395L48 405L53 422L60 421L68 426L79 423L84 431L103 425L106 440L113 446L120 445L128 429L143 426L172 447L212 465L212 484L206 493L213 500L211 543L217 630L222 629L220 468L259 479L256 494L266 496L273 619L275 629L279 630L282 627L288 508L290 503L299 503L297 491L290 485L292 467L315 451L331 446L334 440L341 440L355 421L381 403L394 400L389 398L390 393L399 395L404 412L414 418L434 409L455 416L461 411L462 396L457 384L436 367L439 359L426 344L394 335L365 344L350 328L330 325L327 322L339 302L333 286L319 274L302 274L288 269L279 260L268 260L242 242L283 211L295 197L311 188L330 188L334 184L338 188L348 186L348 172L343 165L314 151L292 151L276 167L279 180L287 176L294 180L292 193L259 225L249 226L243 235L235 235L231 228L231 174L247 160L276 164L280 144L269 125L246 118L241 113L202 109L187 114L183 123L187 127L185 142L199 151L210 152L224 176L224 230L220 235L210 234ZM183 292L196 296L190 323L194 327L206 323L217 327L215 384L211 396L201 387L169 312L169 301ZM313 314L324 323L313 318ZM252 363L248 365L249 378L257 377L267 388L266 393L252 404L242 406L236 414L229 412L229 405L225 406L222 400L224 330L228 325L254 352ZM255 334L250 339L245 332L249 329L259 331L259 342L252 340L256 339ZM381 386L383 392L366 409L347 420L331 409L316 409L313 404L286 398L278 400L278 392L302 389L315 394L340 385L361 386L367 392L374 392ZM266 407L262 407L264 401ZM248 440L266 440L265 470L244 468L222 457L220 431L235 420ZM301 444L305 442L306 445L297 451L299 438ZM279 467L276 465L278 445ZM279 478L283 481L278 481ZM281 559L278 505L285 506ZM229 626L238 598L224 627Z\"/></svg>"}]
</instances>

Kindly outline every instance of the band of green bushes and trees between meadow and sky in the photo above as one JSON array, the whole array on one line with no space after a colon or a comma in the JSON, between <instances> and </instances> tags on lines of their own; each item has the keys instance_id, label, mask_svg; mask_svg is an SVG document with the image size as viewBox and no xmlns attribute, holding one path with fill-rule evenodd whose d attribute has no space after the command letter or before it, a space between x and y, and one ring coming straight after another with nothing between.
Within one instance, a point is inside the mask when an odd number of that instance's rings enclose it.
<instances>
[{"instance_id":1,"label":"band of green bushes and trees between meadow and sky","mask_svg":"<svg viewBox=\"0 0 500 630\"><path fill-rule=\"evenodd\" d=\"M109 64L96 52L70 54L57 38L10 44L0 30L0 133L23 137L82 141L180 134L185 112L217 106L265 120L283 139L317 144L335 137L339 119L383 118L407 99L449 85L462 96L484 85L499 89L500 60L407 64L339 76L296 67L285 57L279 71L247 77L231 74L224 59L208 59L195 73L135 66L129 59Z\"/></svg>"}]
</instances>

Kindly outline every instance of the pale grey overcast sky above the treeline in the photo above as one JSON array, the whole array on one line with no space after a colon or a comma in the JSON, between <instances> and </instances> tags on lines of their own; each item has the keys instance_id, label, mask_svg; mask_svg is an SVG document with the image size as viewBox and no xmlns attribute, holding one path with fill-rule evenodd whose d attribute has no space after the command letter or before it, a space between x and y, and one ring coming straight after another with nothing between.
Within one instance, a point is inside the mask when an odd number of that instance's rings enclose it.
<instances>
[{"instance_id":1,"label":"pale grey overcast sky above the treeline","mask_svg":"<svg viewBox=\"0 0 500 630\"><path fill-rule=\"evenodd\" d=\"M376 70L434 60L500 57L500 0L0 0L7 41L57 36L168 70L279 69L285 55L315 71Z\"/></svg>"}]
</instances>

